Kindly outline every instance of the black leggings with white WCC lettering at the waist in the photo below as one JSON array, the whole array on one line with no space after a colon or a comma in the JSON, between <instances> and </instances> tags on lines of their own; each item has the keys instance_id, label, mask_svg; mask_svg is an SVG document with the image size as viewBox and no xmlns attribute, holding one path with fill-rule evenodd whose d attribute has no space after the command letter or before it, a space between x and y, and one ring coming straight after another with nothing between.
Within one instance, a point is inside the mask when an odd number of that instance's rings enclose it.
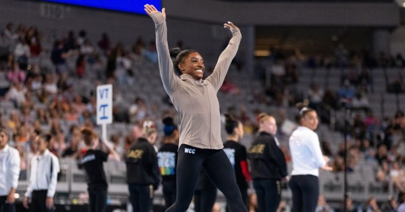
<instances>
[{"instance_id":1,"label":"black leggings with white WCC lettering at the waist","mask_svg":"<svg viewBox=\"0 0 405 212\"><path fill-rule=\"evenodd\" d=\"M225 195L231 212L247 212L233 167L225 152L222 149L199 149L186 144L182 144L178 150L176 201L166 212L187 211L201 168Z\"/></svg>"}]
</instances>

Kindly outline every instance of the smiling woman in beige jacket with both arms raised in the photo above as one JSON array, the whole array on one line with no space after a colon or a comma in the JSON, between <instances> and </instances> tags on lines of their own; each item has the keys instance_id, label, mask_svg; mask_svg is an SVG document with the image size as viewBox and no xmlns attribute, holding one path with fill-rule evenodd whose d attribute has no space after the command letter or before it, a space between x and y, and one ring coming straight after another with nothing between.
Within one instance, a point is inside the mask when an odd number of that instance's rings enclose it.
<instances>
[{"instance_id":1,"label":"smiling woman in beige jacket with both arms raised","mask_svg":"<svg viewBox=\"0 0 405 212\"><path fill-rule=\"evenodd\" d=\"M217 98L242 38L239 29L231 22L224 24L232 33L231 41L221 53L213 73L203 80L204 60L197 51L179 48L169 51L165 8L159 12L153 5L146 4L145 11L155 22L163 85L180 115L177 196L167 212L188 209L201 168L225 195L231 212L247 212L233 167L223 150Z\"/></svg>"}]
</instances>

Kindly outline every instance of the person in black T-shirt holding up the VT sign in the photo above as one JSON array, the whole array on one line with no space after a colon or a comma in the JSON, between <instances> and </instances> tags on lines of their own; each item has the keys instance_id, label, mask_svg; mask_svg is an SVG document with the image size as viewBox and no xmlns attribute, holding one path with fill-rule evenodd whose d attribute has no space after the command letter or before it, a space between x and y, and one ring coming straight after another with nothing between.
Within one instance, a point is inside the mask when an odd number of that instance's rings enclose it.
<instances>
[{"instance_id":1,"label":"person in black T-shirt holding up the VT sign","mask_svg":"<svg viewBox=\"0 0 405 212\"><path fill-rule=\"evenodd\" d=\"M119 156L106 139L102 139L102 143L109 153L99 150L99 135L90 128L81 129L81 133L86 145L81 166L87 175L90 212L104 212L107 207L108 183L103 162L108 159L119 161Z\"/></svg>"}]
</instances>

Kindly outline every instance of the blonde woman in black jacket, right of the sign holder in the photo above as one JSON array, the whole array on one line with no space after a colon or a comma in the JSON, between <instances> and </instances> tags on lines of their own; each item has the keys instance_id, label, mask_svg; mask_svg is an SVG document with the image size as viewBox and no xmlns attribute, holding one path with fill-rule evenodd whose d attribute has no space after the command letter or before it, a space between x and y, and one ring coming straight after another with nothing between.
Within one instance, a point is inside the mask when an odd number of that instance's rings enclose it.
<instances>
[{"instance_id":1,"label":"blonde woman in black jacket, right of the sign holder","mask_svg":"<svg viewBox=\"0 0 405 212\"><path fill-rule=\"evenodd\" d=\"M145 121L142 136L125 155L129 201L134 212L149 212L152 209L153 192L159 186L158 158L153 147L156 138L155 124Z\"/></svg>"}]
</instances>

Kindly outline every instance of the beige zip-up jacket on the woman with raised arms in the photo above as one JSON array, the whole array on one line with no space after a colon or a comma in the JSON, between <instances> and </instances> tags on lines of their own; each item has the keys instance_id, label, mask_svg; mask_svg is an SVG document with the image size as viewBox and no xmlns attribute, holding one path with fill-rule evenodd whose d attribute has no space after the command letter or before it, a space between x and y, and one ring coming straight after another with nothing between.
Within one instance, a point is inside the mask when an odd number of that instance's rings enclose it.
<instances>
[{"instance_id":1,"label":"beige zip-up jacket on the woman with raised arms","mask_svg":"<svg viewBox=\"0 0 405 212\"><path fill-rule=\"evenodd\" d=\"M179 146L187 144L201 149L224 148L221 139L221 115L217 92L224 82L242 35L232 29L232 39L221 53L213 73L205 80L174 74L167 41L166 20L162 13L152 13L156 27L156 46L163 85L180 116Z\"/></svg>"}]
</instances>

